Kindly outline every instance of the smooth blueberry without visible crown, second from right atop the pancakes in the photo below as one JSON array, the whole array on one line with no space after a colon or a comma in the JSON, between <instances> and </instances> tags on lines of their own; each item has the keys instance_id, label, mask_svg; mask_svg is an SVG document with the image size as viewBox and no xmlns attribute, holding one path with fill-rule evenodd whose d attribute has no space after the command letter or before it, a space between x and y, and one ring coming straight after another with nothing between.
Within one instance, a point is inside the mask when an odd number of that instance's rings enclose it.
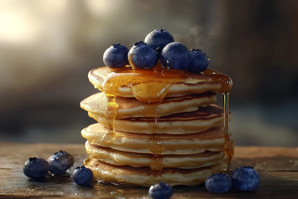
<instances>
[{"instance_id":1,"label":"smooth blueberry without visible crown, second from right atop the pancakes","mask_svg":"<svg viewBox=\"0 0 298 199\"><path fill-rule=\"evenodd\" d=\"M173 42L167 44L160 55L160 62L163 67L184 70L190 62L190 53L184 44Z\"/></svg>"}]
</instances>

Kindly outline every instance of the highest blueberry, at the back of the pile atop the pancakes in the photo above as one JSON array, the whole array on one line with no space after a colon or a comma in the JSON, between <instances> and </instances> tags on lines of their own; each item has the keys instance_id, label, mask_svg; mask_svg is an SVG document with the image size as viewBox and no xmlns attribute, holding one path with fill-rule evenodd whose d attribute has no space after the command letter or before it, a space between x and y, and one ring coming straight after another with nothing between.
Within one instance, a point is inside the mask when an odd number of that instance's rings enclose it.
<instances>
[{"instance_id":1,"label":"highest blueberry, at the back of the pile atop the pancakes","mask_svg":"<svg viewBox=\"0 0 298 199\"><path fill-rule=\"evenodd\" d=\"M172 42L174 42L173 36L164 29L153 30L145 38L145 43L156 49L159 54L167 44Z\"/></svg>"}]
</instances>

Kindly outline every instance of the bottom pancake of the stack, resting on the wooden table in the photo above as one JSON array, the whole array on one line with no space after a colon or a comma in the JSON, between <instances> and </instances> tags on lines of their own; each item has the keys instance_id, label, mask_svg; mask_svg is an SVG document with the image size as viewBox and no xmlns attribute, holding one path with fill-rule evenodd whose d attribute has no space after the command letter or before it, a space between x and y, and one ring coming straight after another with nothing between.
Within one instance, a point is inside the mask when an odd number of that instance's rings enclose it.
<instances>
[{"instance_id":1,"label":"bottom pancake of the stack, resting on the wooden table","mask_svg":"<svg viewBox=\"0 0 298 199\"><path fill-rule=\"evenodd\" d=\"M165 168L160 172L152 172L149 167L134 168L131 166L115 166L96 159L87 160L84 165L91 169L94 179L124 185L151 186L164 182L170 186L197 185L216 172L225 171L226 161L199 169Z\"/></svg>"}]
</instances>

